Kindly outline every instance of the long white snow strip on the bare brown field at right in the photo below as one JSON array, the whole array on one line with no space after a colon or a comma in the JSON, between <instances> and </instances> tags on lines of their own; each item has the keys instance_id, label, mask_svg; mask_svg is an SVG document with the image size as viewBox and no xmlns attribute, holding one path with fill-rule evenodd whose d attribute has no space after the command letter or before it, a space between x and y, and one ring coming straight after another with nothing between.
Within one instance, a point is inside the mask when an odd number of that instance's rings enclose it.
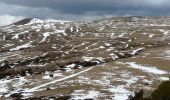
<instances>
[{"instance_id":1,"label":"long white snow strip on the bare brown field at right","mask_svg":"<svg viewBox=\"0 0 170 100\"><path fill-rule=\"evenodd\" d=\"M162 75L162 74L168 74L167 71L164 70L159 70L156 67L150 67L150 66L142 66L140 64L136 64L135 62L127 62L126 64L128 64L128 67L134 68L134 69L140 69L144 72L148 72L148 73L153 73L153 74L158 74L158 75Z\"/></svg>"}]
</instances>

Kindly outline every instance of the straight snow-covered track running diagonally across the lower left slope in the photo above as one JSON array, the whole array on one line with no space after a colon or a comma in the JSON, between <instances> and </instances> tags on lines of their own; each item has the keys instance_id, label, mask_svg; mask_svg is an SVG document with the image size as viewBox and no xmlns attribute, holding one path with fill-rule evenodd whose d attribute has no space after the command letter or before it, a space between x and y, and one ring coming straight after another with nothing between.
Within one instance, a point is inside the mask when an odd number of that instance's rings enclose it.
<instances>
[{"instance_id":1,"label":"straight snow-covered track running diagonally across the lower left slope","mask_svg":"<svg viewBox=\"0 0 170 100\"><path fill-rule=\"evenodd\" d=\"M70 76L67 76L67 77L64 77L64 78L61 78L61 79L58 79L58 80L54 80L54 81L51 81L51 82L48 82L48 83L45 83L45 84L42 84L42 85L33 87L33 88L31 88L31 89L25 90L24 92L34 92L34 91L37 91L38 89L40 89L40 88L42 88L42 87L45 87L45 86L50 85L50 84L54 84L54 83L56 83L56 82L60 82L60 81L64 81L64 80L73 78L73 77L75 77L75 76L77 76L77 75L80 75L80 74L82 74L82 73L84 73L84 72L87 72L87 71L89 71L89 70L91 70L91 69L93 69L93 68L94 68L94 67L90 67L90 68L85 69L85 70L83 70L83 71L80 71L80 72L78 72L78 73L76 73L76 74L72 74L72 75L70 75Z\"/></svg>"}]
</instances>

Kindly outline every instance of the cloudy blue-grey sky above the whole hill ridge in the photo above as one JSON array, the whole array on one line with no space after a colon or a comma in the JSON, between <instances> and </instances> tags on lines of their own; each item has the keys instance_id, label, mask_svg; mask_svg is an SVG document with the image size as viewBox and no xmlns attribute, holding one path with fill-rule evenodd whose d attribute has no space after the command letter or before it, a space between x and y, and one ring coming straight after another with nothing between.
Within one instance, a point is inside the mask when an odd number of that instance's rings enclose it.
<instances>
[{"instance_id":1,"label":"cloudy blue-grey sky above the whole hill ridge","mask_svg":"<svg viewBox=\"0 0 170 100\"><path fill-rule=\"evenodd\" d=\"M0 0L0 25L23 18L93 20L112 16L169 16L169 0Z\"/></svg>"}]
</instances>

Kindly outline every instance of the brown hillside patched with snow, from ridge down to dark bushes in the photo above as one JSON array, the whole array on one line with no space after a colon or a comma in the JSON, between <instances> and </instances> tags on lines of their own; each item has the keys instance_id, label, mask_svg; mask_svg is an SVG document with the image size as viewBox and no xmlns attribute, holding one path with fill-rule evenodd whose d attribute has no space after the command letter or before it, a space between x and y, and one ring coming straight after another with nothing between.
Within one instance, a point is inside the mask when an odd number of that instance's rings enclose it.
<instances>
[{"instance_id":1,"label":"brown hillside patched with snow, from ridge down to dark bushes","mask_svg":"<svg viewBox=\"0 0 170 100\"><path fill-rule=\"evenodd\" d=\"M140 89L148 94L169 80L169 29L169 17L28 18L2 27L0 96L126 100Z\"/></svg>"}]
</instances>

